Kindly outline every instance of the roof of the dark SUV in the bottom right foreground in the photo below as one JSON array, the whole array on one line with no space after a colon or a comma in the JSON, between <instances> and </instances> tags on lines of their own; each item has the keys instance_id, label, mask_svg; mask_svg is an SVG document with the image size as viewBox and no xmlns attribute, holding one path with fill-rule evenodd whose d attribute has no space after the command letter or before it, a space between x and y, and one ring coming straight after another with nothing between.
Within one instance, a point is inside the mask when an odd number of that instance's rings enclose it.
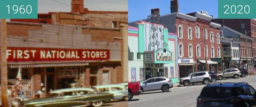
<instances>
[{"instance_id":1,"label":"roof of the dark SUV in the bottom right foreground","mask_svg":"<svg viewBox=\"0 0 256 107\"><path fill-rule=\"evenodd\" d=\"M211 83L211 84L207 84L205 87L240 87L240 86L244 86L244 85L248 85L248 83L245 82L238 82L238 83L233 83L233 82L224 82L224 83Z\"/></svg>"}]
</instances>

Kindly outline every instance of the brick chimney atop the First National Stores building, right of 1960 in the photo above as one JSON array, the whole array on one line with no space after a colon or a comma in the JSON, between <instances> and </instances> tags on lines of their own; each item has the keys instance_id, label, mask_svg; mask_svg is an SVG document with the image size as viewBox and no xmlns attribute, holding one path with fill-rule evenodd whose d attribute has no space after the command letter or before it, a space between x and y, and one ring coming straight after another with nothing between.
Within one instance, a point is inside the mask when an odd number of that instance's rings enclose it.
<instances>
[{"instance_id":1,"label":"brick chimney atop the First National Stores building, right of 1960","mask_svg":"<svg viewBox=\"0 0 256 107\"><path fill-rule=\"evenodd\" d=\"M72 0L71 1L71 12L72 13L83 13L84 12L84 0Z\"/></svg>"}]
</instances>

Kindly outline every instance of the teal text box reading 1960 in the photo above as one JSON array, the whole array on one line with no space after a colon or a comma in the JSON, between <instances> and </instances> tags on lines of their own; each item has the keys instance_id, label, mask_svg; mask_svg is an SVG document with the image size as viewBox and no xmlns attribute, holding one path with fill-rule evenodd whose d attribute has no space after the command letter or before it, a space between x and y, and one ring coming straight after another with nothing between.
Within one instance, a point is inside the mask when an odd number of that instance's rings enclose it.
<instances>
[{"instance_id":1,"label":"teal text box reading 1960","mask_svg":"<svg viewBox=\"0 0 256 107\"><path fill-rule=\"evenodd\" d=\"M37 19L37 0L1 0L0 19Z\"/></svg>"}]
</instances>

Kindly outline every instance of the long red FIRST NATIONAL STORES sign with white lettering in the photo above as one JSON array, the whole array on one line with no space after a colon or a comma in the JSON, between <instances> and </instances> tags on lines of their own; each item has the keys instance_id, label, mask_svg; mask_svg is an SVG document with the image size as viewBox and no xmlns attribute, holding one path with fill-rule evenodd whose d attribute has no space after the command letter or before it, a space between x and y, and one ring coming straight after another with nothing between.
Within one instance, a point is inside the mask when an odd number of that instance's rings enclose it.
<instances>
[{"instance_id":1,"label":"long red FIRST NATIONAL STORES sign with white lettering","mask_svg":"<svg viewBox=\"0 0 256 107\"><path fill-rule=\"evenodd\" d=\"M7 47L8 62L109 60L110 52L104 49L56 49Z\"/></svg>"}]
</instances>

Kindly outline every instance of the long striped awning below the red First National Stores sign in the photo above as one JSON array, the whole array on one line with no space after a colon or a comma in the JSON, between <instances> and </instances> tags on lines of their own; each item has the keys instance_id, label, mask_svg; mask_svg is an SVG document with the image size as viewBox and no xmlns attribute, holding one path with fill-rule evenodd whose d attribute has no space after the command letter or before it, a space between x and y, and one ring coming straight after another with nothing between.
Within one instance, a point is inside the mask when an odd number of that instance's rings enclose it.
<instances>
[{"instance_id":1,"label":"long striped awning below the red First National Stores sign","mask_svg":"<svg viewBox=\"0 0 256 107\"><path fill-rule=\"evenodd\" d=\"M88 63L54 63L54 64L20 64L8 65L8 68L40 68L40 67L64 67L64 66L86 66Z\"/></svg>"}]
</instances>

